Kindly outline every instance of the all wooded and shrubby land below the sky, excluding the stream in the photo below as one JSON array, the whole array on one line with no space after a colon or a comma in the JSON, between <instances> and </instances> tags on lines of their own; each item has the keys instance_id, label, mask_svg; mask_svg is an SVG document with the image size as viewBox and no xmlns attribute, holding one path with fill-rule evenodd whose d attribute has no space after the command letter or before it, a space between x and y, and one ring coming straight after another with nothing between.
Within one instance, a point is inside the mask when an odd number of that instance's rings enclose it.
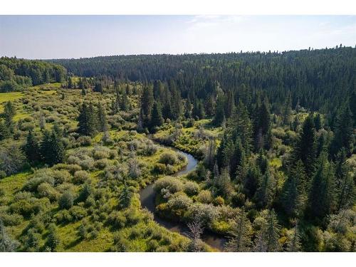
<instances>
[{"instance_id":1,"label":"all wooded and shrubby land below the sky, excluding the stream","mask_svg":"<svg viewBox=\"0 0 356 267\"><path fill-rule=\"evenodd\" d=\"M356 251L356 48L0 75L0 251Z\"/></svg>"}]
</instances>

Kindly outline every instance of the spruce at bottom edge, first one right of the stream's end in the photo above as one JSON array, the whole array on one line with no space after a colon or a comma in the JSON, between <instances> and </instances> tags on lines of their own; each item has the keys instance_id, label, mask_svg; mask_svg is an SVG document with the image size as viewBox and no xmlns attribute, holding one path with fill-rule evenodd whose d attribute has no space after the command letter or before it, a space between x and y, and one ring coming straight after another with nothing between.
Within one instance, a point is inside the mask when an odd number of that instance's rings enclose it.
<instances>
[{"instance_id":1,"label":"spruce at bottom edge, first one right of the stream's end","mask_svg":"<svg viewBox=\"0 0 356 267\"><path fill-rule=\"evenodd\" d=\"M239 211L239 215L234 222L234 227L230 232L231 238L226 244L227 251L250 251L252 245L251 231L251 223L248 220L244 209L242 209Z\"/></svg>"}]
</instances>

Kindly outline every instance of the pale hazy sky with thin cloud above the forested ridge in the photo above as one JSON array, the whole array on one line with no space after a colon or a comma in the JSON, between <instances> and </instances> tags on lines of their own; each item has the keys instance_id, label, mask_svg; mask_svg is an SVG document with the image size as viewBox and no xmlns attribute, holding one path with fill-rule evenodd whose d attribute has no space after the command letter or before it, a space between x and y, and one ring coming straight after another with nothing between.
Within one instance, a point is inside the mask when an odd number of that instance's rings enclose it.
<instances>
[{"instance_id":1,"label":"pale hazy sky with thin cloud above the forested ridge","mask_svg":"<svg viewBox=\"0 0 356 267\"><path fill-rule=\"evenodd\" d=\"M356 45L356 16L0 16L0 56L286 51Z\"/></svg>"}]
</instances>

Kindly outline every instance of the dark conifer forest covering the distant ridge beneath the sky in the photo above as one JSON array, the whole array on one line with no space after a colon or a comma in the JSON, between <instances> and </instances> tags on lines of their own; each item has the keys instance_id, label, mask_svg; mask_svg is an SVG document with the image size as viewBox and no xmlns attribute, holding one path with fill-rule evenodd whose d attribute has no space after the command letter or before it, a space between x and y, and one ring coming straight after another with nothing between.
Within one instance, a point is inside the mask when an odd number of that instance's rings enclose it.
<instances>
[{"instance_id":1,"label":"dark conifer forest covering the distant ridge beneath the sky","mask_svg":"<svg viewBox=\"0 0 356 267\"><path fill-rule=\"evenodd\" d=\"M173 80L183 98L202 102L222 90L232 92L236 100L263 93L273 105L280 105L290 92L293 107L330 112L356 88L356 49L341 45L283 53L103 56L51 62L85 77Z\"/></svg>"}]
</instances>

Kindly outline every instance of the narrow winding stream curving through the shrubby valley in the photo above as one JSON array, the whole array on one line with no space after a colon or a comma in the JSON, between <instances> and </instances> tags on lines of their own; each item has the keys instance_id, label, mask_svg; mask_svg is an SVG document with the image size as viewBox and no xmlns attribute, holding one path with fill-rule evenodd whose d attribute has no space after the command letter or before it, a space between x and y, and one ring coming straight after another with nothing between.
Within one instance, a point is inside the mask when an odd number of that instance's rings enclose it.
<instances>
[{"instance_id":1,"label":"narrow winding stream curving through the shrubby valley","mask_svg":"<svg viewBox=\"0 0 356 267\"><path fill-rule=\"evenodd\" d=\"M182 152L180 150L177 150L173 147L170 147L172 150L184 155L188 159L188 164L186 167L181 169L179 172L176 172L172 176L180 176L183 174L187 174L188 172L191 172L197 167L198 161L195 159L192 155ZM142 189L140 191L140 201L141 201L141 206L148 209L149 211L154 214L154 219L155 221L160 224L161 226L164 226L166 229L169 231L174 231L179 234L182 234L184 236L187 236L187 233L189 232L189 229L186 224L179 223L179 222L174 222L174 221L169 221L167 219L162 219L155 214L155 190L153 189L154 184L149 184L147 187ZM208 244L209 246L213 248L217 248L220 251L224 249L224 244L226 243L226 238L223 236L220 236L218 234L211 233L210 231L204 231L204 234L202 234L201 239Z\"/></svg>"}]
</instances>

